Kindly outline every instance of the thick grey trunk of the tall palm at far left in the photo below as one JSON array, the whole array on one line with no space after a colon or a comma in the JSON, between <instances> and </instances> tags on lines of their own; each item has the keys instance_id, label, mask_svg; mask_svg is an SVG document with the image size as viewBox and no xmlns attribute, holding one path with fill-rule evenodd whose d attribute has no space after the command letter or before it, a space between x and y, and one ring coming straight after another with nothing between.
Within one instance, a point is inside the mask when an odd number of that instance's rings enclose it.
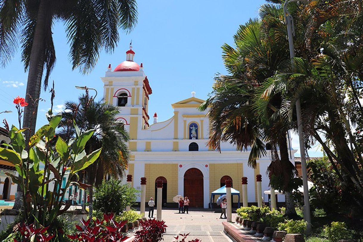
<instances>
[{"instance_id":1,"label":"thick grey trunk of the tall palm at far left","mask_svg":"<svg viewBox=\"0 0 363 242\"><path fill-rule=\"evenodd\" d=\"M35 132L35 126L38 113L38 102L33 102L40 97L41 79L43 74L43 66L45 59L45 31L46 31L46 13L47 13L47 0L41 0L38 9L37 23L35 26L34 39L32 51L29 61L28 82L26 84L25 100L29 103L24 109L23 127L28 130L25 135L27 138L32 136ZM19 177L22 179L21 177ZM16 199L13 209L21 209L23 206L23 190L18 185Z\"/></svg>"}]
</instances>

